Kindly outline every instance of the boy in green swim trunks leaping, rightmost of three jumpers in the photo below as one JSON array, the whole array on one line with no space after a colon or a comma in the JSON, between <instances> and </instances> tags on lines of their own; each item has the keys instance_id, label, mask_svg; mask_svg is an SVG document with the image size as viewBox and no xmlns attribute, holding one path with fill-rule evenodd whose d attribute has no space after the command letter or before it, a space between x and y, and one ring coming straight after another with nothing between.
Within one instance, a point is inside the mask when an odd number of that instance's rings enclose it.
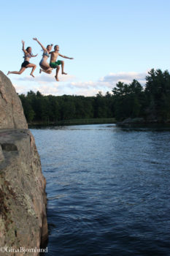
<instances>
[{"instance_id":1,"label":"boy in green swim trunks leaping, rightmost of three jumpers","mask_svg":"<svg viewBox=\"0 0 170 256\"><path fill-rule=\"evenodd\" d=\"M57 81L59 81L59 79L58 79L58 72L60 70L60 66L59 65L61 65L61 69L62 69L61 73L62 73L62 75L67 75L67 73L63 71L64 61L60 61L60 60L56 61L58 56L61 56L61 57L65 58L65 59L73 59L73 58L69 58L69 57L61 55L59 53L59 46L58 45L55 45L54 51L50 52L50 54L51 54L50 67L52 67L53 69L56 69L55 79Z\"/></svg>"}]
</instances>

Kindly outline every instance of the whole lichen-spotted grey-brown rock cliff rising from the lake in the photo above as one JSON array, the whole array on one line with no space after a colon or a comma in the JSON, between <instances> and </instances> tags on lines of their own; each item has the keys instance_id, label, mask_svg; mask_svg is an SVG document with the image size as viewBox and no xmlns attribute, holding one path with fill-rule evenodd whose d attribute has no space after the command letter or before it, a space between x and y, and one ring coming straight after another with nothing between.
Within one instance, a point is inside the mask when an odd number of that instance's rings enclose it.
<instances>
[{"instance_id":1,"label":"whole lichen-spotted grey-brown rock cliff rising from the lake","mask_svg":"<svg viewBox=\"0 0 170 256\"><path fill-rule=\"evenodd\" d=\"M46 182L20 99L2 72L0 111L0 255L36 256L48 236Z\"/></svg>"}]
</instances>

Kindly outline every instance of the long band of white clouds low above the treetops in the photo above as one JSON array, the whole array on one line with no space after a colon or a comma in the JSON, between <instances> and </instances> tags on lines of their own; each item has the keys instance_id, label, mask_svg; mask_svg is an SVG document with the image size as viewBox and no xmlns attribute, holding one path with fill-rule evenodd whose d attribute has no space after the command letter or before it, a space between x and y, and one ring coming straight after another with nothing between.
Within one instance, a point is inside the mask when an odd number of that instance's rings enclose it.
<instances>
[{"instance_id":1,"label":"long band of white clouds low above the treetops","mask_svg":"<svg viewBox=\"0 0 170 256\"><path fill-rule=\"evenodd\" d=\"M53 94L53 95L63 95L63 94L76 94L85 96L94 96L101 91L106 94L107 91L111 92L116 86L118 81L123 83L131 83L132 80L136 79L144 85L146 72L118 72L109 73L109 75L99 78L96 81L80 81L77 80L72 75L60 76L60 82L57 82L54 78L54 74L51 75L38 75L35 79L26 76L25 78L15 78L17 83L15 83L16 91L19 94L26 94L28 91L40 91L42 94ZM27 83L25 83L27 82ZM31 83L34 82L34 83ZM20 84L22 83L22 84ZM24 84L26 84L24 86Z\"/></svg>"}]
</instances>

